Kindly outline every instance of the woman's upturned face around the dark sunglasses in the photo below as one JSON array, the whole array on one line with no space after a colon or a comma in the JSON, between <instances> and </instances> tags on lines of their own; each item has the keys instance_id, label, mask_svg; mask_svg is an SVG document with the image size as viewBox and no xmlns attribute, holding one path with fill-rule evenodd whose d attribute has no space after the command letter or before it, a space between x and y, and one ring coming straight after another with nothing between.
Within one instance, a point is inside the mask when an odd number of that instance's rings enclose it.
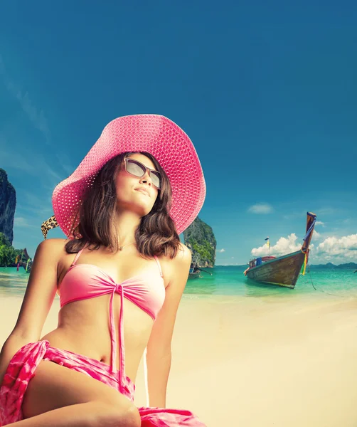
<instances>
[{"instance_id":1,"label":"woman's upturned face around the dark sunglasses","mask_svg":"<svg viewBox=\"0 0 357 427\"><path fill-rule=\"evenodd\" d=\"M155 169L154 163L144 154L130 154L131 159L137 160L150 169ZM159 190L152 184L149 171L144 176L134 176L125 170L124 162L117 174L117 206L118 208L135 211L140 217L149 214Z\"/></svg>"}]
</instances>

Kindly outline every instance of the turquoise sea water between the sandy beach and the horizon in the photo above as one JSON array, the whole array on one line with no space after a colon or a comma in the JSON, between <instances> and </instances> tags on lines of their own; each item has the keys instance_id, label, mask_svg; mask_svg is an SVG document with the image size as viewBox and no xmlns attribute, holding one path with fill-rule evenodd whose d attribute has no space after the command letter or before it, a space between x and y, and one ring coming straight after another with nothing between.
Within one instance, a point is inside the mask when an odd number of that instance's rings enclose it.
<instances>
[{"instance_id":1,"label":"turquoise sea water between the sandy beach and the horizon","mask_svg":"<svg viewBox=\"0 0 357 427\"><path fill-rule=\"evenodd\" d=\"M245 267L233 265L206 268L212 275L201 272L201 278L188 280L186 295L245 295L259 297L267 295L301 295L324 292L331 295L357 296L357 273L346 269L314 269L302 276L295 289L272 285L257 285L245 278ZM0 268L0 295L23 295L28 273L21 268ZM314 287L316 290L314 289Z\"/></svg>"}]
</instances>

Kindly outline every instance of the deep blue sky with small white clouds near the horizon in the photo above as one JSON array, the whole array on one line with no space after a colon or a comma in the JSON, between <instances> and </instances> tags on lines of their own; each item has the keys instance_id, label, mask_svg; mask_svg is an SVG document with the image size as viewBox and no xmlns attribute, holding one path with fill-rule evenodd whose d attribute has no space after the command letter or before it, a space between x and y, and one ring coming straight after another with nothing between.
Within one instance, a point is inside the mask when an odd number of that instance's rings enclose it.
<instances>
[{"instance_id":1,"label":"deep blue sky with small white clouds near the horizon","mask_svg":"<svg viewBox=\"0 0 357 427\"><path fill-rule=\"evenodd\" d=\"M1 2L0 167L33 255L56 184L114 117L162 114L195 144L216 264L302 243L357 262L354 1ZM62 237L59 229L49 237Z\"/></svg>"}]
</instances>

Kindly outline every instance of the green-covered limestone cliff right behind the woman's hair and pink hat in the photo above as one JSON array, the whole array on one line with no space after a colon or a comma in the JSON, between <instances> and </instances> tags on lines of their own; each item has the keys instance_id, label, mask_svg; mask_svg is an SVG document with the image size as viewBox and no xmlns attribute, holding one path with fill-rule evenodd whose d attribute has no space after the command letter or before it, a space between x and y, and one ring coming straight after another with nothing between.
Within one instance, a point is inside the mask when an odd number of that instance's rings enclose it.
<instances>
[{"instance_id":1,"label":"green-covered limestone cliff right behind the woman's hair and pink hat","mask_svg":"<svg viewBox=\"0 0 357 427\"><path fill-rule=\"evenodd\" d=\"M198 267L214 267L217 242L212 227L197 217L191 226L183 231L183 238L185 245L193 253L192 260L199 255Z\"/></svg>"}]
</instances>

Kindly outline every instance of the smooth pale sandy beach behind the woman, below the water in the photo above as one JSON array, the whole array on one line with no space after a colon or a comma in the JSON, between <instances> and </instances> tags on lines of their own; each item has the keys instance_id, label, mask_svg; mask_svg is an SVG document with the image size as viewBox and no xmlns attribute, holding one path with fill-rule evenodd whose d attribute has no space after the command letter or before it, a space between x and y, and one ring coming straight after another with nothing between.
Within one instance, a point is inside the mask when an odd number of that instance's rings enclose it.
<instances>
[{"instance_id":1,"label":"smooth pale sandy beach behind the woman, below the water","mask_svg":"<svg viewBox=\"0 0 357 427\"><path fill-rule=\"evenodd\" d=\"M0 344L21 297L0 297ZM55 300L43 333L57 324ZM183 295L167 406L208 427L356 427L357 299ZM137 406L146 404L144 371Z\"/></svg>"}]
</instances>

